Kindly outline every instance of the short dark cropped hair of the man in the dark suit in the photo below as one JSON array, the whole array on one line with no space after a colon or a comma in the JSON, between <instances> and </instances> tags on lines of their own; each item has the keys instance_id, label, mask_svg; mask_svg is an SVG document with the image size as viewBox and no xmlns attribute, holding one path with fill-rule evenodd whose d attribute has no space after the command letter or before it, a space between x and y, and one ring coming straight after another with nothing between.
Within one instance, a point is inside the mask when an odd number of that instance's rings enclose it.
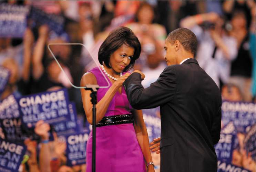
<instances>
[{"instance_id":1,"label":"short dark cropped hair of the man in the dark suit","mask_svg":"<svg viewBox=\"0 0 256 172\"><path fill-rule=\"evenodd\" d=\"M196 35L187 28L177 28L167 36L167 41L174 44L178 40L186 51L191 52L193 55L196 53L197 39Z\"/></svg>"}]
</instances>

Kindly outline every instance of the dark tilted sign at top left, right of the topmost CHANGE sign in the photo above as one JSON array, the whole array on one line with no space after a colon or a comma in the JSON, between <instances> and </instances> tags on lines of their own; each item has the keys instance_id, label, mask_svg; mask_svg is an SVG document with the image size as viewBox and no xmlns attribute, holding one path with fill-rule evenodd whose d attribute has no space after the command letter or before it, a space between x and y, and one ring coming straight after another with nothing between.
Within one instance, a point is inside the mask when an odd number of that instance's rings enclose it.
<instances>
[{"instance_id":1,"label":"dark tilted sign at top left, right of the topmost CHANGE sign","mask_svg":"<svg viewBox=\"0 0 256 172\"><path fill-rule=\"evenodd\" d=\"M44 11L31 7L30 16L37 25L47 24L57 34L61 34L64 28L64 18L61 15L47 14Z\"/></svg>"}]
</instances>

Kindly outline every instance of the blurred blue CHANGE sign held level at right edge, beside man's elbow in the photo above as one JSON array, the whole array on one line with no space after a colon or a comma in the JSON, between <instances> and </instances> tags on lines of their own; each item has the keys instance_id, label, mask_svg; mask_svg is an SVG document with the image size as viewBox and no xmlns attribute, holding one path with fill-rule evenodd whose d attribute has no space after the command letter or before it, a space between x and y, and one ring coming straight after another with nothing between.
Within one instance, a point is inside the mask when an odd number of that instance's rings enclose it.
<instances>
[{"instance_id":1,"label":"blurred blue CHANGE sign held level at right edge, beside man's elbow","mask_svg":"<svg viewBox=\"0 0 256 172\"><path fill-rule=\"evenodd\" d=\"M246 133L246 128L255 124L255 103L222 102L222 122L234 122L237 132Z\"/></svg>"}]
</instances>

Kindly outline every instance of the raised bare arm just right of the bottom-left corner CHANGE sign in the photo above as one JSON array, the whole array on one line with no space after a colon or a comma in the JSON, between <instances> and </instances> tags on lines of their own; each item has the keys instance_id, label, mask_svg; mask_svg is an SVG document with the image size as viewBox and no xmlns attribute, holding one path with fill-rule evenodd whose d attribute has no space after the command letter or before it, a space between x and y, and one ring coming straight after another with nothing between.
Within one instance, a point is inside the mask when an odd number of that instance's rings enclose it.
<instances>
[{"instance_id":1,"label":"raised bare arm just right of the bottom-left corner CHANGE sign","mask_svg":"<svg viewBox=\"0 0 256 172\"><path fill-rule=\"evenodd\" d=\"M29 151L30 156L28 160L29 172L39 172L38 162L37 162L37 142L26 139L24 144L27 146L27 151Z\"/></svg>"}]
</instances>

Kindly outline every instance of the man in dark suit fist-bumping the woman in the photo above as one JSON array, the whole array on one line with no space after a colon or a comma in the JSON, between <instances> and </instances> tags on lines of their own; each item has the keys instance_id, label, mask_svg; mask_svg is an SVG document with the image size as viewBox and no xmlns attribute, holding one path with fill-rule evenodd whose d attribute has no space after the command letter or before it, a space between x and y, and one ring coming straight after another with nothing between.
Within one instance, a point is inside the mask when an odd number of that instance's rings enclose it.
<instances>
[{"instance_id":1,"label":"man in dark suit fist-bumping the woman","mask_svg":"<svg viewBox=\"0 0 256 172\"><path fill-rule=\"evenodd\" d=\"M123 83L135 109L161 108L161 141L152 144L161 152L161 172L217 171L221 93L193 58L196 46L193 32L174 30L165 40L168 66L160 77L144 89L145 76L136 70Z\"/></svg>"}]
</instances>

